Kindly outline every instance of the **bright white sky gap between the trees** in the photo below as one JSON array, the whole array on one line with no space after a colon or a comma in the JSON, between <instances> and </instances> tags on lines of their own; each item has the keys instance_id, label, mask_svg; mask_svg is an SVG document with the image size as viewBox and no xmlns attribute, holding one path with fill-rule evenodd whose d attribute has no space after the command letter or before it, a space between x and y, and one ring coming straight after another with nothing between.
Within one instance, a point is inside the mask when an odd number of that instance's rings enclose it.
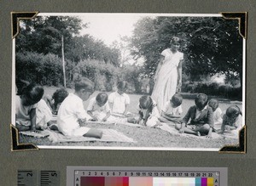
<instances>
[{"instance_id":1,"label":"bright white sky gap between the trees","mask_svg":"<svg viewBox=\"0 0 256 186\"><path fill-rule=\"evenodd\" d=\"M80 31L81 35L90 34L101 39L108 46L119 37L131 37L134 24L142 18L140 14L85 14L79 16L84 23L90 22L88 28Z\"/></svg>"}]
</instances>

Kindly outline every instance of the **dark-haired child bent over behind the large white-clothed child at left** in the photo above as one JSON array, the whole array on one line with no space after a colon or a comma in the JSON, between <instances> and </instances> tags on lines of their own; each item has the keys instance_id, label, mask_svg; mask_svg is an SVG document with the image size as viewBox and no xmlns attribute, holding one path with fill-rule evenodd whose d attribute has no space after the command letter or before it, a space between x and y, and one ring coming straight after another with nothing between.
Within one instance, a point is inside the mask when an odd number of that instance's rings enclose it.
<instances>
[{"instance_id":1,"label":"dark-haired child bent over behind the large white-clothed child at left","mask_svg":"<svg viewBox=\"0 0 256 186\"><path fill-rule=\"evenodd\" d=\"M67 98L67 96L67 90L65 88L59 88L51 97L49 95L45 96L44 101L48 104L52 114L57 115L61 103Z\"/></svg>"}]
</instances>

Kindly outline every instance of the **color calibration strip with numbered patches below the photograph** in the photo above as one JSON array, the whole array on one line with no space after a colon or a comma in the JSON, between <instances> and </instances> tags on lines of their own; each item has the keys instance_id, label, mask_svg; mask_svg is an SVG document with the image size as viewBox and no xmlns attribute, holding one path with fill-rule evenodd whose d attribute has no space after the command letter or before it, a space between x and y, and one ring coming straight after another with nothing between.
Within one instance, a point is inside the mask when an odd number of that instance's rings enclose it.
<instances>
[{"instance_id":1,"label":"color calibration strip with numbered patches below the photograph","mask_svg":"<svg viewBox=\"0 0 256 186\"><path fill-rule=\"evenodd\" d=\"M70 186L227 186L226 167L67 166Z\"/></svg>"}]
</instances>

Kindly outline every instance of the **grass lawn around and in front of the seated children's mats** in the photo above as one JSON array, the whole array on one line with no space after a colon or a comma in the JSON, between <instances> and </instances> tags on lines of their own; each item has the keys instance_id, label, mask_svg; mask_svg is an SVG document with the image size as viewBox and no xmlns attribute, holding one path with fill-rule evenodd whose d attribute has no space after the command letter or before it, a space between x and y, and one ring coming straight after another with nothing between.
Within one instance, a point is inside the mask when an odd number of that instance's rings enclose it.
<instances>
[{"instance_id":1,"label":"grass lawn around and in front of the seated children's mats","mask_svg":"<svg viewBox=\"0 0 256 186\"><path fill-rule=\"evenodd\" d=\"M57 87L44 87L45 94L52 95ZM73 90L69 89L69 92ZM99 92L93 93L90 98L95 97ZM108 93L109 94L109 93ZM138 100L142 95L129 94L131 104L128 111L136 113ZM186 96L187 98L188 96ZM193 96L192 96L193 97ZM84 108L87 107L89 100L84 102ZM194 99L183 99L183 116L191 105L195 104ZM229 100L220 100L219 107L221 110L226 110L230 104L234 104ZM241 108L241 103L236 102ZM174 135L169 132L149 127L129 127L124 125L104 125L104 124L89 124L88 127L93 128L110 128L118 132L124 133L127 137L133 138L137 143L102 143L102 142L82 142L82 143L61 143L52 144L48 138L32 138L20 135L20 143L32 143L37 145L65 145L65 146L110 146L110 147L158 147L158 148L216 148L219 149L226 144L237 144L236 139L208 139L208 138L186 138L179 135Z\"/></svg>"}]
</instances>

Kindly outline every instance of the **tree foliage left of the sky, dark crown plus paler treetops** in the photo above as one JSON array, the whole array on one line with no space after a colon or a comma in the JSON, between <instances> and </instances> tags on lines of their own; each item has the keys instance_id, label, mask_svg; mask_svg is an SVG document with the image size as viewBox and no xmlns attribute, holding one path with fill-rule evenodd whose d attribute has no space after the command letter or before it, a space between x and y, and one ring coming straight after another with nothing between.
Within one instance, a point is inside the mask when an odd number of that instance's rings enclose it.
<instances>
[{"instance_id":1,"label":"tree foliage left of the sky, dark crown plus paler treetops","mask_svg":"<svg viewBox=\"0 0 256 186\"><path fill-rule=\"evenodd\" d=\"M16 52L56 54L61 57L61 36L64 38L65 58L75 64L79 60L96 59L119 65L119 48L109 48L90 35L79 36L85 27L82 20L71 16L38 16L25 20L16 39Z\"/></svg>"}]
</instances>

